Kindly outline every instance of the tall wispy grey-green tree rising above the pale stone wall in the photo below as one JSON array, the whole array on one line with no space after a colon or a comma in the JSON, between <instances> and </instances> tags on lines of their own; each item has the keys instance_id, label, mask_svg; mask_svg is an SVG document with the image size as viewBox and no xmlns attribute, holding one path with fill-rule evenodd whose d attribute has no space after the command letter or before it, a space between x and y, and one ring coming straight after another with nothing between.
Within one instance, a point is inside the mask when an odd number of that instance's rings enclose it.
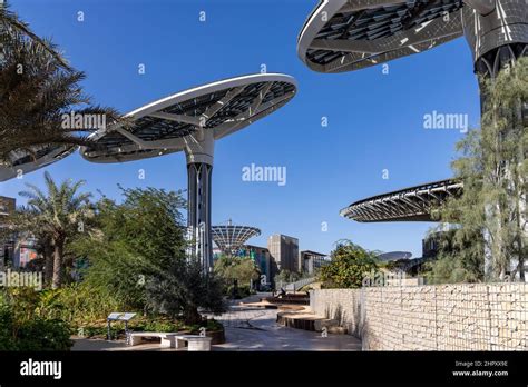
<instances>
[{"instance_id":1,"label":"tall wispy grey-green tree rising above the pale stone wall","mask_svg":"<svg viewBox=\"0 0 528 387\"><path fill-rule=\"evenodd\" d=\"M436 276L451 280L525 279L527 257L528 130L522 103L528 100L528 58L482 82L482 128L457 145L461 157L452 163L463 181L460 198L448 200L439 220L458 224L449 249L442 248ZM452 248L454 247L454 248ZM456 262L458 260L458 262ZM510 272L511 262L517 267ZM449 276L447 277L449 279Z\"/></svg>"}]
</instances>

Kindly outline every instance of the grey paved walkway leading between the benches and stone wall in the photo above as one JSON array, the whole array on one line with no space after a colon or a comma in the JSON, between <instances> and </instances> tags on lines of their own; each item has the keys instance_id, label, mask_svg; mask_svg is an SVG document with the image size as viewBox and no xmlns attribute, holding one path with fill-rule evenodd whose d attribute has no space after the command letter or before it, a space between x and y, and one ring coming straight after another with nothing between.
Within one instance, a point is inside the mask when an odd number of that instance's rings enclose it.
<instances>
[{"instance_id":1,"label":"grey paved walkway leading between the benches and stone wall","mask_svg":"<svg viewBox=\"0 0 528 387\"><path fill-rule=\"evenodd\" d=\"M224 324L226 335L226 343L214 346L214 350L361 350L361 341L353 336L323 337L320 333L283 327L276 324L276 309L232 305L226 314L214 316Z\"/></svg>"}]
</instances>

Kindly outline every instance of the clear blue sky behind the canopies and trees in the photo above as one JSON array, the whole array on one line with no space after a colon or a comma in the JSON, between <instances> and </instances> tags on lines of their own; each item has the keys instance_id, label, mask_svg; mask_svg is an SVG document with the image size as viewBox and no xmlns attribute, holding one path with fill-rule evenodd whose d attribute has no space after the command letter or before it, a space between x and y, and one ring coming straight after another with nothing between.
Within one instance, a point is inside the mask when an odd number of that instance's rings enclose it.
<instances>
[{"instance_id":1,"label":"clear blue sky behind the canopies and trees","mask_svg":"<svg viewBox=\"0 0 528 387\"><path fill-rule=\"evenodd\" d=\"M266 246L276 232L301 249L330 252L350 238L368 249L421 256L432 224L356 224L341 218L350 202L452 176L456 130L426 130L432 111L479 121L478 85L463 39L362 71L321 75L296 56L296 38L317 1L307 0L11 0L39 36L63 50L94 101L127 112L160 97L218 79L258 72L296 78L297 96L276 113L222 139L215 148L213 221L256 226ZM85 21L78 21L78 12ZM206 12L206 22L199 13ZM138 75L145 64L146 73ZM321 126L327 117L329 126ZM245 166L286 167L287 181L245 182ZM138 170L146 179L138 179ZM383 169L389 179L383 179ZM120 165L89 163L75 155L47 168L85 179L86 190L117 198L125 187L185 189L184 155ZM41 185L43 170L0 183L17 196ZM21 202L21 201L20 201ZM327 230L322 230L322 222Z\"/></svg>"}]
</instances>

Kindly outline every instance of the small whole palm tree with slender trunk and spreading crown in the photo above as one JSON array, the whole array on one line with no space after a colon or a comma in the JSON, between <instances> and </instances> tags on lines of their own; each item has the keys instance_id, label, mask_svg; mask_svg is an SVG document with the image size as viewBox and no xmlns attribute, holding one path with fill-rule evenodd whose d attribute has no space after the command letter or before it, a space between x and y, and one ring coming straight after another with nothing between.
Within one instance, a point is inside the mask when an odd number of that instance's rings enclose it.
<instances>
[{"instance_id":1,"label":"small whole palm tree with slender trunk and spreading crown","mask_svg":"<svg viewBox=\"0 0 528 387\"><path fill-rule=\"evenodd\" d=\"M52 287L62 285L65 246L77 234L79 227L94 215L90 204L91 194L79 194L84 180L77 182L68 179L58 186L49 172L45 172L48 192L27 183L28 191L19 195L28 198L28 207L23 209L33 218L33 225L39 228L39 235L49 238L53 247Z\"/></svg>"}]
</instances>

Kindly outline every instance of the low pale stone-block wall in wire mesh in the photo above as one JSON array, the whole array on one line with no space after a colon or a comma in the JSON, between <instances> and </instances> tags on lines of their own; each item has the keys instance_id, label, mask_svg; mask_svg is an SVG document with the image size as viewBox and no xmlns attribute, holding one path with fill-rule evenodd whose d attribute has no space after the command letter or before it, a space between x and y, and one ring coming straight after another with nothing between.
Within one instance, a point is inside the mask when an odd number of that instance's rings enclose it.
<instances>
[{"instance_id":1,"label":"low pale stone-block wall in wire mesh","mask_svg":"<svg viewBox=\"0 0 528 387\"><path fill-rule=\"evenodd\" d=\"M528 350L528 284L311 290L365 350Z\"/></svg>"}]
</instances>

